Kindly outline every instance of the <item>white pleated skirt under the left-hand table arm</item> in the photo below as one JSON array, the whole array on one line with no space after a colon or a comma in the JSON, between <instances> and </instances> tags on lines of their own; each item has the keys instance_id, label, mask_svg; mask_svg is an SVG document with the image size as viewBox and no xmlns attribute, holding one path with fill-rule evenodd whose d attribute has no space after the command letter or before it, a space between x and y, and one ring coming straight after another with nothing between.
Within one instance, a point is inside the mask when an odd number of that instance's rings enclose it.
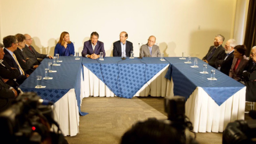
<instances>
[{"instance_id":1,"label":"white pleated skirt under the left-hand table arm","mask_svg":"<svg viewBox=\"0 0 256 144\"><path fill-rule=\"evenodd\" d=\"M80 106L82 104L83 77L81 73ZM70 89L61 99L54 103L54 119L59 124L64 136L74 136L79 132L79 109L75 89ZM54 130L57 128L54 126Z\"/></svg>"}]
</instances>

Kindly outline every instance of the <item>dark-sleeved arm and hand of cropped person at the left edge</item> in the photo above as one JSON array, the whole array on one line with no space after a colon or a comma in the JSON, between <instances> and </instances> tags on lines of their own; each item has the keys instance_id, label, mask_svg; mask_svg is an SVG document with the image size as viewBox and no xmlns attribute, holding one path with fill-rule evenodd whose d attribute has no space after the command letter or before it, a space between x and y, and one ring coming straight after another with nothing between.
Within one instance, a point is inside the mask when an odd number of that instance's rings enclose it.
<instances>
[{"instance_id":1,"label":"dark-sleeved arm and hand of cropped person at the left edge","mask_svg":"<svg viewBox=\"0 0 256 144\"><path fill-rule=\"evenodd\" d=\"M18 96L13 87L4 83L0 77L0 113L11 106L11 102Z\"/></svg>"}]
</instances>

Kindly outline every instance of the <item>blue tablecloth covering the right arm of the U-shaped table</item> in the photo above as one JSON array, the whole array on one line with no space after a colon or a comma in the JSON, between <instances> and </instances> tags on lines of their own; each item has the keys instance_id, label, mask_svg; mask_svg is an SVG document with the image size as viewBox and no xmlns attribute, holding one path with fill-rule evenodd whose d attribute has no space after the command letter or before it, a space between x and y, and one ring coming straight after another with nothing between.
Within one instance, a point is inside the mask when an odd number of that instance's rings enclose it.
<instances>
[{"instance_id":1,"label":"blue tablecloth covering the right arm of the U-shaped table","mask_svg":"<svg viewBox=\"0 0 256 144\"><path fill-rule=\"evenodd\" d=\"M194 58L191 58L192 63L184 63L187 59L180 60L178 57L165 59L170 62L170 67L165 77L170 80L171 77L173 78L174 95L181 95L188 99L196 87L199 86L220 106L229 97L245 87L243 84L209 65L207 65L207 72L209 74L199 73L203 71L203 64L205 64L205 62L200 59L198 59L198 68L190 67L194 66ZM215 78L218 79L217 81L209 81L207 79L211 77L211 69L215 70Z\"/></svg>"}]
</instances>

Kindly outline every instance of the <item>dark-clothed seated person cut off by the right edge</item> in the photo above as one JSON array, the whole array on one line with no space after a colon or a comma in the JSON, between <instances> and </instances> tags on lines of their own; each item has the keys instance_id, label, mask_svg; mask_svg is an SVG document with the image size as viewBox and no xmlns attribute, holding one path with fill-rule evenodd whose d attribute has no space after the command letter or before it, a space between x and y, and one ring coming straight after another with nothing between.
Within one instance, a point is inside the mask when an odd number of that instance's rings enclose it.
<instances>
[{"instance_id":1,"label":"dark-clothed seated person cut off by the right edge","mask_svg":"<svg viewBox=\"0 0 256 144\"><path fill-rule=\"evenodd\" d=\"M246 101L256 102L256 46L252 47L250 60L245 67L242 78L246 86Z\"/></svg>"}]
</instances>

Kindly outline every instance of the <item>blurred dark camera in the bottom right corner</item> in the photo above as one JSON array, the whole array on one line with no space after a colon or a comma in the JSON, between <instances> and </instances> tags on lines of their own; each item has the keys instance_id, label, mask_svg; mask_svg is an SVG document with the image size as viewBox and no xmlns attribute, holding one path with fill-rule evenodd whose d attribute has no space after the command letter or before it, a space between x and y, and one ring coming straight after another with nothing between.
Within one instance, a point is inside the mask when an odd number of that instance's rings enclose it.
<instances>
[{"instance_id":1,"label":"blurred dark camera in the bottom right corner","mask_svg":"<svg viewBox=\"0 0 256 144\"><path fill-rule=\"evenodd\" d=\"M249 116L253 119L244 121L238 120L229 123L223 132L222 143L256 143L256 111L251 110Z\"/></svg>"}]
</instances>

